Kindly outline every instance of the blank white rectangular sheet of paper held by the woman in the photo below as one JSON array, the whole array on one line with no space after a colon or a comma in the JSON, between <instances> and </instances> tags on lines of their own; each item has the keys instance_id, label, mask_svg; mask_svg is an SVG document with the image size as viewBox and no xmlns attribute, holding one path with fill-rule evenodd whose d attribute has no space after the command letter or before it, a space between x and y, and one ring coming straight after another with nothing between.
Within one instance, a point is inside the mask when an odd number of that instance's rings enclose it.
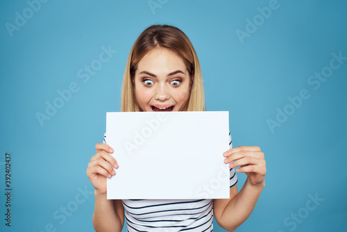
<instances>
[{"instance_id":1,"label":"blank white rectangular sheet of paper held by the woman","mask_svg":"<svg viewBox=\"0 0 347 232\"><path fill-rule=\"evenodd\" d=\"M108 112L107 199L226 199L228 111Z\"/></svg>"}]
</instances>

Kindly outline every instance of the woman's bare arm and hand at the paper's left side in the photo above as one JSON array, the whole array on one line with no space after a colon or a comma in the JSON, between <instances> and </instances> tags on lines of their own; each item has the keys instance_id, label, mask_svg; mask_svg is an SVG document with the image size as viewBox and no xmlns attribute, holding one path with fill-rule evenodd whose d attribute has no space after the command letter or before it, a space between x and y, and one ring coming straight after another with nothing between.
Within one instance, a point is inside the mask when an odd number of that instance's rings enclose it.
<instances>
[{"instance_id":1,"label":"woman's bare arm and hand at the paper's left side","mask_svg":"<svg viewBox=\"0 0 347 232\"><path fill-rule=\"evenodd\" d=\"M121 200L108 200L106 179L115 174L118 164L109 153L108 144L96 144L96 155L90 159L87 176L94 186L95 206L92 217L95 231L121 231L124 225L124 207ZM112 164L112 165L111 165Z\"/></svg>"}]
</instances>

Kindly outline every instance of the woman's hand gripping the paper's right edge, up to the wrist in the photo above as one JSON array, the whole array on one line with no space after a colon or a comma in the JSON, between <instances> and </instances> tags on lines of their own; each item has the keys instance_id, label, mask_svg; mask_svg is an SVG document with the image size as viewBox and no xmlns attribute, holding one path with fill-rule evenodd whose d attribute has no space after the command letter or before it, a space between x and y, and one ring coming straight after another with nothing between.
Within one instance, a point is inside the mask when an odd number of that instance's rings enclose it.
<instances>
[{"instance_id":1,"label":"woman's hand gripping the paper's right edge, up to the wrist","mask_svg":"<svg viewBox=\"0 0 347 232\"><path fill-rule=\"evenodd\" d=\"M240 166L236 171L246 173L248 181L251 181L252 185L264 185L266 164L264 153L260 150L260 147L234 147L224 152L223 156L226 157L224 163L230 163L230 168Z\"/></svg>"}]
</instances>

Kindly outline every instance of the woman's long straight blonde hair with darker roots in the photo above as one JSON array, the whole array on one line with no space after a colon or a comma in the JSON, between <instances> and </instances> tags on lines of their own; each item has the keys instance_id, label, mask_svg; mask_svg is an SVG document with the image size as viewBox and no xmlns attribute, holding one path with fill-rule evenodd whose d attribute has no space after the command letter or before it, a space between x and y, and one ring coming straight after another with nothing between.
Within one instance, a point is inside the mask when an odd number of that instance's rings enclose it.
<instances>
[{"instance_id":1,"label":"woman's long straight blonde hair with darker roots","mask_svg":"<svg viewBox=\"0 0 347 232\"><path fill-rule=\"evenodd\" d=\"M139 60L151 49L158 47L175 51L185 61L192 88L183 111L205 111L203 76L192 42L183 31L175 26L152 25L139 35L130 50L121 90L121 112L142 111L135 99L133 78Z\"/></svg>"}]
</instances>

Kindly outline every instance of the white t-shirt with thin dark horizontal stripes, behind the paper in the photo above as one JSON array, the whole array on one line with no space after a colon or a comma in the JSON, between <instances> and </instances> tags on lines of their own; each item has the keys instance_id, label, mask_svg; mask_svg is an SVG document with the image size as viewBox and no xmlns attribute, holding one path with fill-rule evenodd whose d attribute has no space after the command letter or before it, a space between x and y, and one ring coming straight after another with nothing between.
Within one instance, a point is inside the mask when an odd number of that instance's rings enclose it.
<instances>
[{"instance_id":1,"label":"white t-shirt with thin dark horizontal stripes, behind the paper","mask_svg":"<svg viewBox=\"0 0 347 232\"><path fill-rule=\"evenodd\" d=\"M103 136L106 143L106 134ZM229 132L229 147L232 140ZM237 184L230 169L230 188ZM127 231L213 231L213 199L122 199Z\"/></svg>"}]
</instances>

